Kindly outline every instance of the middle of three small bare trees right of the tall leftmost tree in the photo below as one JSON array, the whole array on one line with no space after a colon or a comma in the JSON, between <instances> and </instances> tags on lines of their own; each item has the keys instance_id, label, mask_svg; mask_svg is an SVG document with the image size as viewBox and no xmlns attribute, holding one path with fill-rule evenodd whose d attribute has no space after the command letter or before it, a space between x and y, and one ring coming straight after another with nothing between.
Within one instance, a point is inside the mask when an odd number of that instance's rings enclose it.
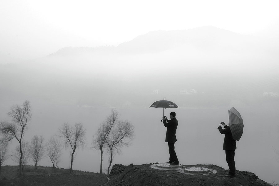
<instances>
[{"instance_id":1,"label":"middle of three small bare trees right of the tall leftmost tree","mask_svg":"<svg viewBox=\"0 0 279 186\"><path fill-rule=\"evenodd\" d=\"M31 144L29 145L29 148L28 148L30 157L32 158L33 162L35 163L35 169L37 169L37 164L42 159L42 157L45 153L43 141L44 141L44 138L42 136L38 137L37 135L35 135L32 138Z\"/></svg>"}]
</instances>

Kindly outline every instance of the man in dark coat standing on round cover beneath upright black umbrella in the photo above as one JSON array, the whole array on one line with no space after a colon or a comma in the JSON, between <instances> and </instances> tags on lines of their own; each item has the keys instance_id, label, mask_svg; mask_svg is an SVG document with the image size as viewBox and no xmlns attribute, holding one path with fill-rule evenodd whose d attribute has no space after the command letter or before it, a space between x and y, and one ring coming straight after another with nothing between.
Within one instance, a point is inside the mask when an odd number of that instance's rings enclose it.
<instances>
[{"instance_id":1,"label":"man in dark coat standing on round cover beneath upright black umbrella","mask_svg":"<svg viewBox=\"0 0 279 186\"><path fill-rule=\"evenodd\" d=\"M168 142L169 145L169 153L170 153L170 161L167 163L170 163L171 165L178 165L179 161L177 159L174 144L177 141L175 132L177 129L178 121L175 117L175 112L170 113L170 120L166 119L166 117L163 117L163 123L164 126L167 127L166 131L166 140L165 142Z\"/></svg>"}]
</instances>

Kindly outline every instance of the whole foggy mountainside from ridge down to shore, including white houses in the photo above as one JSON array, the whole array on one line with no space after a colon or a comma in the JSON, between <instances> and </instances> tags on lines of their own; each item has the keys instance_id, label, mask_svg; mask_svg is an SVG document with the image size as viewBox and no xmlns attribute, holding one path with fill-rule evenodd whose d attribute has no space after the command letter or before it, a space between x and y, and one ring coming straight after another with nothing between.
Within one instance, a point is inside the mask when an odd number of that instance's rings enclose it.
<instances>
[{"instance_id":1,"label":"whole foggy mountainside from ridge down to shore, including white houses","mask_svg":"<svg viewBox=\"0 0 279 186\"><path fill-rule=\"evenodd\" d=\"M145 105L134 98L152 101L150 95L193 107L264 99L263 92L279 92L272 46L212 26L152 31L117 47L66 47L2 65L0 90L7 99L21 94L77 105ZM187 90L196 93L182 94Z\"/></svg>"}]
</instances>

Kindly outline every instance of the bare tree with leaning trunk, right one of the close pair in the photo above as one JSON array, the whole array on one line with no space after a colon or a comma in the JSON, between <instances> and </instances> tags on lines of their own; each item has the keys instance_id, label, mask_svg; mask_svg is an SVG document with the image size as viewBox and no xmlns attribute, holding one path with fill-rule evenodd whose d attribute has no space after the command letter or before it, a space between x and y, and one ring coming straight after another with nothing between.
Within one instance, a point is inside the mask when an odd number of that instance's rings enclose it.
<instances>
[{"instance_id":1,"label":"bare tree with leaning trunk, right one of the close pair","mask_svg":"<svg viewBox=\"0 0 279 186\"><path fill-rule=\"evenodd\" d=\"M116 127L112 130L112 132L108 135L108 138L106 139L108 152L110 153L108 174L115 153L117 152L119 154L121 152L120 150L122 146L130 145L130 142L133 138L134 126L128 121L117 122Z\"/></svg>"}]
</instances>

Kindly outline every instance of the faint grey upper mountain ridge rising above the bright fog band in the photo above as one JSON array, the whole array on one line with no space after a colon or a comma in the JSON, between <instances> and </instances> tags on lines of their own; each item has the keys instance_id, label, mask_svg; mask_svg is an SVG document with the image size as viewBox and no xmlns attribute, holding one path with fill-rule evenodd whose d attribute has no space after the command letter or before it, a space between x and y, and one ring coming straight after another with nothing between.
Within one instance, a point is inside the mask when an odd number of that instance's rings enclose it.
<instances>
[{"instance_id":1,"label":"faint grey upper mountain ridge rising above the bright fog band","mask_svg":"<svg viewBox=\"0 0 279 186\"><path fill-rule=\"evenodd\" d=\"M131 41L123 42L117 47L66 47L51 55L73 55L93 52L121 52L128 54L143 54L162 52L186 46L199 50L240 50L243 46L255 47L260 38L219 29L213 26L203 26L187 30L151 31L140 35ZM187 53L187 51L184 51Z\"/></svg>"}]
</instances>

